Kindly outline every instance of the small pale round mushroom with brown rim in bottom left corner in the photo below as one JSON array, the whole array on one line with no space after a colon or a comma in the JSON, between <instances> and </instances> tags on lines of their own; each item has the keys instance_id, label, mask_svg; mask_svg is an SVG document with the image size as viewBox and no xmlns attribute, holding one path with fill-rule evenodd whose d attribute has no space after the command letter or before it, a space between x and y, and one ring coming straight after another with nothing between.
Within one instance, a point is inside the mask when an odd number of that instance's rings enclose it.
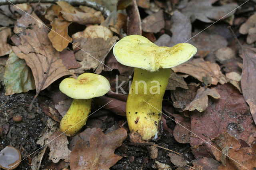
<instances>
[{"instance_id":1,"label":"small pale round mushroom with brown rim in bottom left corner","mask_svg":"<svg viewBox=\"0 0 256 170\"><path fill-rule=\"evenodd\" d=\"M0 151L0 167L5 170L13 170L19 166L21 154L17 148L6 146Z\"/></svg>"}]
</instances>

